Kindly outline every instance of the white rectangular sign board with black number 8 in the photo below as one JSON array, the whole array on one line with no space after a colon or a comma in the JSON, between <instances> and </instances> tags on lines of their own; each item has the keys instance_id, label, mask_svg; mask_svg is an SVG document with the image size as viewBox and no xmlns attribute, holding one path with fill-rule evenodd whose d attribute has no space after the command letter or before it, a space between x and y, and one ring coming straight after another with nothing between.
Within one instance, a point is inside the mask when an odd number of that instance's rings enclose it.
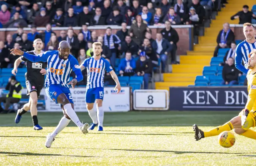
<instances>
[{"instance_id":1,"label":"white rectangular sign board with black number 8","mask_svg":"<svg viewBox=\"0 0 256 166\"><path fill-rule=\"evenodd\" d=\"M168 110L168 90L134 90L133 108L135 110Z\"/></svg>"}]
</instances>

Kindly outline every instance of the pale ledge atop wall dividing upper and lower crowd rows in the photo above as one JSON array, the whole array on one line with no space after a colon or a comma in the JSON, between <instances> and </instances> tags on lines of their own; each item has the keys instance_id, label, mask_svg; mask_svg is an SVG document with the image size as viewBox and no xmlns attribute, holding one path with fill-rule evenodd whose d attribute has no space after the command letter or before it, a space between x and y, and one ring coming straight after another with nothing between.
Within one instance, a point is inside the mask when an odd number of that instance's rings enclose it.
<instances>
[{"instance_id":1,"label":"pale ledge atop wall dividing upper and lower crowd rows","mask_svg":"<svg viewBox=\"0 0 256 166\"><path fill-rule=\"evenodd\" d=\"M106 29L107 27L111 27L112 29L122 29L121 26L116 25L97 25L97 26L89 26L88 29ZM161 26L154 26L149 25L149 28L164 28L164 25ZM173 28L191 28L193 25L172 25ZM0 28L0 31L17 31L18 28ZM30 27L23 28L25 31L29 31ZM44 31L46 30L45 27L37 27L38 31ZM52 27L52 30L67 30L68 27ZM82 27L73 27L74 30L80 30ZM130 29L130 26L127 26L127 29Z\"/></svg>"}]
</instances>

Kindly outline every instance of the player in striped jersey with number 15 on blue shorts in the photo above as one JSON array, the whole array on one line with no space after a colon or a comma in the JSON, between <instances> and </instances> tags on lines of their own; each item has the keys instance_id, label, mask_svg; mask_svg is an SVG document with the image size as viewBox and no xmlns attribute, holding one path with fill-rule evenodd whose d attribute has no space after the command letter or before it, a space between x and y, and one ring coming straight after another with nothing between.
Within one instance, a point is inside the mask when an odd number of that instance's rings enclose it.
<instances>
[{"instance_id":1,"label":"player in striped jersey with number 15 on blue shorts","mask_svg":"<svg viewBox=\"0 0 256 166\"><path fill-rule=\"evenodd\" d=\"M98 131L103 131L104 111L102 101L104 96L104 74L105 70L109 72L116 82L117 93L120 92L121 86L110 63L101 57L102 44L95 42L92 44L93 57L90 57L80 65L81 70L87 69L87 86L86 86L86 107L92 119L92 125L89 130L93 130L98 125ZM97 112L94 111L93 105L96 100ZM98 118L97 118L98 117Z\"/></svg>"}]
</instances>

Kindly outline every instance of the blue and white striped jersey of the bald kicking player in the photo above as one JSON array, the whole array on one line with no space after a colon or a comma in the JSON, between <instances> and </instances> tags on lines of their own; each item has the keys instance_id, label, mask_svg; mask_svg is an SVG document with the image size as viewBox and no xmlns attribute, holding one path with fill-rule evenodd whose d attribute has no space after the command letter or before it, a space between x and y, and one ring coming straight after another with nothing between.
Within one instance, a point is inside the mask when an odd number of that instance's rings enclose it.
<instances>
[{"instance_id":1,"label":"blue and white striped jersey of the bald kicking player","mask_svg":"<svg viewBox=\"0 0 256 166\"><path fill-rule=\"evenodd\" d=\"M47 62L47 74L45 79L45 87L51 84L62 84L68 87L70 72L73 70L81 70L78 61L72 55L68 59L60 59L59 51L46 51L33 57L34 61Z\"/></svg>"}]
</instances>

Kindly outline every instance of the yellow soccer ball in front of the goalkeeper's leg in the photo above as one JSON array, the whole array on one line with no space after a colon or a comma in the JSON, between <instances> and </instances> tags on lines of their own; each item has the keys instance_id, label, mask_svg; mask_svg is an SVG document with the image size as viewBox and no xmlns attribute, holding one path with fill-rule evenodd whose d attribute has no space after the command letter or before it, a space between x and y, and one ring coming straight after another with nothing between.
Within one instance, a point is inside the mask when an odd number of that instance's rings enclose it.
<instances>
[{"instance_id":1,"label":"yellow soccer ball in front of the goalkeeper's leg","mask_svg":"<svg viewBox=\"0 0 256 166\"><path fill-rule=\"evenodd\" d=\"M233 146L235 144L236 138L235 138L235 135L233 133L231 133L230 131L223 131L218 136L218 141L219 141L220 146L222 146L224 148L230 148L231 146Z\"/></svg>"}]
</instances>

